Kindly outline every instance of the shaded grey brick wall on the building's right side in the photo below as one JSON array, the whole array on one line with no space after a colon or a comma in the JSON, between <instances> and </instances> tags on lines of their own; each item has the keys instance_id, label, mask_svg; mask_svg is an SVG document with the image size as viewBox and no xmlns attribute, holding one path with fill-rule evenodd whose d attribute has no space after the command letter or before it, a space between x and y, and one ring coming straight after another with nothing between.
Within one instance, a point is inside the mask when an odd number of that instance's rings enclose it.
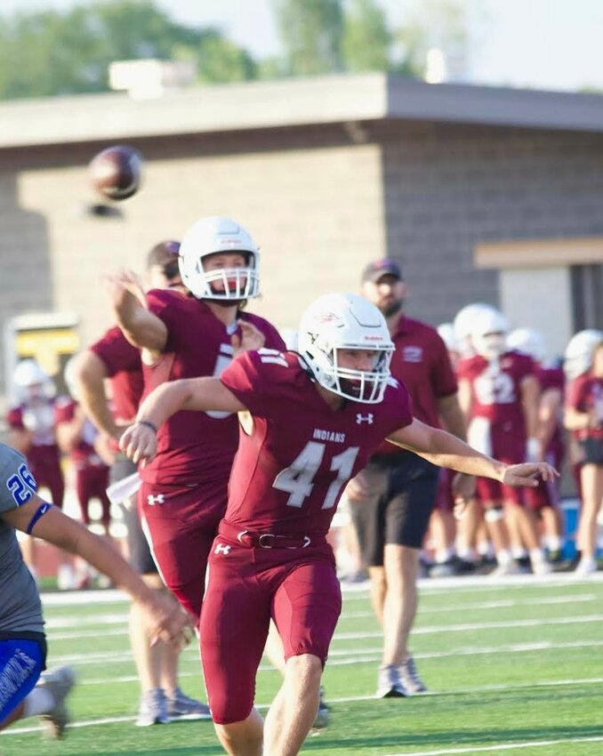
<instances>
[{"instance_id":1,"label":"shaded grey brick wall on the building's right side","mask_svg":"<svg viewBox=\"0 0 603 756\"><path fill-rule=\"evenodd\" d=\"M450 320L469 302L503 305L497 271L474 267L480 242L603 233L599 134L400 123L384 126L380 140L388 248L404 265L407 310L418 318ZM556 312L554 288L539 303Z\"/></svg>"}]
</instances>

